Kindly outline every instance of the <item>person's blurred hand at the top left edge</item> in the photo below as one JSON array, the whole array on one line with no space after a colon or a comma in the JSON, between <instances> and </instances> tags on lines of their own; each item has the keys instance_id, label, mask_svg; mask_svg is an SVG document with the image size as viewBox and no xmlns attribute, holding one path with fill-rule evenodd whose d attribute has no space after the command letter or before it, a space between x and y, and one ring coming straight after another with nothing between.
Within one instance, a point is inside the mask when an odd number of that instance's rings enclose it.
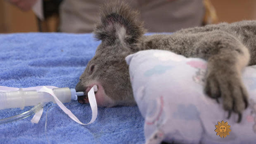
<instances>
[{"instance_id":1,"label":"person's blurred hand at the top left edge","mask_svg":"<svg viewBox=\"0 0 256 144\"><path fill-rule=\"evenodd\" d=\"M19 7L23 11L30 10L37 0L9 0L10 3Z\"/></svg>"}]
</instances>

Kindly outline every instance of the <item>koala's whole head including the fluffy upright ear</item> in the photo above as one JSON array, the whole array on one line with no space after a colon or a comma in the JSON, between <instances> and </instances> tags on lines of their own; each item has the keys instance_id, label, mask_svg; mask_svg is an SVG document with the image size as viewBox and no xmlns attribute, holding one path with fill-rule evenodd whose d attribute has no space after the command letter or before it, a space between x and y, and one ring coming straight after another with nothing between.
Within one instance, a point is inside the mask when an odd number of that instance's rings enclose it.
<instances>
[{"instance_id":1,"label":"koala's whole head including the fluffy upright ear","mask_svg":"<svg viewBox=\"0 0 256 144\"><path fill-rule=\"evenodd\" d=\"M143 24L137 20L137 12L122 2L103 6L100 15L94 33L102 43L81 75L76 91L89 91L97 85L97 105L134 105L125 58L137 51L136 46L145 33Z\"/></svg>"}]
</instances>

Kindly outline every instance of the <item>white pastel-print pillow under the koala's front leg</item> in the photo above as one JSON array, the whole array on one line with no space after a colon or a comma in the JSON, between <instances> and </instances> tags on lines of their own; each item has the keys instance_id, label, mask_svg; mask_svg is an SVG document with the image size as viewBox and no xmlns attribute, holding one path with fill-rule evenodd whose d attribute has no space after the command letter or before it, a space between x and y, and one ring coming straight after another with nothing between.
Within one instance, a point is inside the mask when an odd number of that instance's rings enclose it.
<instances>
[{"instance_id":1,"label":"white pastel-print pillow under the koala's front leg","mask_svg":"<svg viewBox=\"0 0 256 144\"><path fill-rule=\"evenodd\" d=\"M240 144L256 142L256 67L243 81L249 107L242 122L203 92L207 63L170 51L146 50L126 57L133 94L145 118L146 143ZM224 132L222 132L225 127Z\"/></svg>"}]
</instances>

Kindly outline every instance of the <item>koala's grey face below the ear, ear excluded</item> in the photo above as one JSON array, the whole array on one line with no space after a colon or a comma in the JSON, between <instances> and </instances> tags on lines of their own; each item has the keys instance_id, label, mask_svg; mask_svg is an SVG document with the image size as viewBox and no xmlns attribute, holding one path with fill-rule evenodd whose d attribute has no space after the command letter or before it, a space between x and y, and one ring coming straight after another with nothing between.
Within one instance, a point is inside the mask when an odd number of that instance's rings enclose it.
<instances>
[{"instance_id":1,"label":"koala's grey face below the ear, ear excluded","mask_svg":"<svg viewBox=\"0 0 256 144\"><path fill-rule=\"evenodd\" d=\"M81 75L76 91L89 91L93 85L97 85L97 105L134 105L128 65L125 61L127 55L128 52L124 52L120 45L100 44Z\"/></svg>"}]
</instances>

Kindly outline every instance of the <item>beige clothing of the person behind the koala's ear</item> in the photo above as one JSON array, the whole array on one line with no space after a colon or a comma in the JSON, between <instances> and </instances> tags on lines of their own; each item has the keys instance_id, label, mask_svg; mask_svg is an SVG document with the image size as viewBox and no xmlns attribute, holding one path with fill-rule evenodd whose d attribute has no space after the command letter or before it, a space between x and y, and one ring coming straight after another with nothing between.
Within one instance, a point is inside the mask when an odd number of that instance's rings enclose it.
<instances>
[{"instance_id":1,"label":"beige clothing of the person behind the koala's ear","mask_svg":"<svg viewBox=\"0 0 256 144\"><path fill-rule=\"evenodd\" d=\"M203 0L122 0L140 12L148 32L174 32L201 26ZM100 20L99 8L105 0L64 0L60 5L60 31L91 33Z\"/></svg>"}]
</instances>

